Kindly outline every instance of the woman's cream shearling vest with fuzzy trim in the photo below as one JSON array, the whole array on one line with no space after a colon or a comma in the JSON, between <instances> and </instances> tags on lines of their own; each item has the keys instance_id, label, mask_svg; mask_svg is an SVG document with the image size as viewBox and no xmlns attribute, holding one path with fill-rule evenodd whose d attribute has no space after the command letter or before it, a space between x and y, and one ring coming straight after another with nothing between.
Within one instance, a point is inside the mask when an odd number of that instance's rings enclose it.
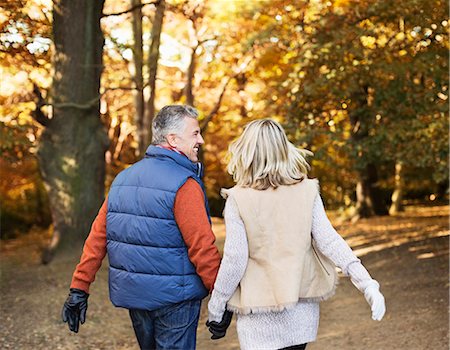
<instances>
[{"instance_id":1,"label":"woman's cream shearling vest with fuzzy trim","mask_svg":"<svg viewBox=\"0 0 450 350\"><path fill-rule=\"evenodd\" d=\"M318 193L317 180L310 179L276 189L235 186L223 190L236 201L249 247L247 269L228 309L241 314L281 311L334 293L334 264L318 251L311 237Z\"/></svg>"}]
</instances>

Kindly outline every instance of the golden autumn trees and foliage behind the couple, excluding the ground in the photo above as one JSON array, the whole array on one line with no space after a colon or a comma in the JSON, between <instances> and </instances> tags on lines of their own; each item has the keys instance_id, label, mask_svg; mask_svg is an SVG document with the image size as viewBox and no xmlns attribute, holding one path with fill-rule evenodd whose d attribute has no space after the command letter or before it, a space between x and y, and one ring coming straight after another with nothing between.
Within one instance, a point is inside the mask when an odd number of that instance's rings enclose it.
<instances>
[{"instance_id":1,"label":"golden autumn trees and foliage behind the couple, excluding the ground","mask_svg":"<svg viewBox=\"0 0 450 350\"><path fill-rule=\"evenodd\" d=\"M1 238L83 242L164 105L201 113L213 214L226 150L274 118L343 218L448 198L448 2L2 2Z\"/></svg>"}]
</instances>

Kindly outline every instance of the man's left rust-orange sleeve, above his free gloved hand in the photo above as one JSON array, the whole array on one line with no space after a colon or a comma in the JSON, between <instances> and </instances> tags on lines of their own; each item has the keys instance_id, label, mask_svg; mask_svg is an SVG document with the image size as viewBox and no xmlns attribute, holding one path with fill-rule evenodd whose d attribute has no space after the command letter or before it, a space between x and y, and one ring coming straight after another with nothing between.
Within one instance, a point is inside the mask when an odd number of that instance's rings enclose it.
<instances>
[{"instance_id":1,"label":"man's left rust-orange sleeve, above his free gloved hand","mask_svg":"<svg viewBox=\"0 0 450 350\"><path fill-rule=\"evenodd\" d=\"M75 268L70 288L78 288L89 293L89 286L95 280L97 271L102 266L106 255L106 213L108 198L103 202L97 217L92 223L89 236L84 243L80 263Z\"/></svg>"}]
</instances>

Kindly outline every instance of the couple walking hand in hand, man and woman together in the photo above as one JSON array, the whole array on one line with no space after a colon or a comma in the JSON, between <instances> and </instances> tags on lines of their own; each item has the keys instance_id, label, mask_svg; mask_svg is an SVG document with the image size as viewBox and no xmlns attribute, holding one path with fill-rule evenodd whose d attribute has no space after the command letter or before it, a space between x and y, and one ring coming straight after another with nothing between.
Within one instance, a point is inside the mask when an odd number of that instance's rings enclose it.
<instances>
[{"instance_id":1,"label":"couple walking hand in hand, man and woman together","mask_svg":"<svg viewBox=\"0 0 450 350\"><path fill-rule=\"evenodd\" d=\"M106 254L112 303L129 310L141 349L195 349L201 300L207 327L225 336L236 314L242 349L304 349L316 339L319 302L335 266L364 294L374 320L379 284L330 224L305 156L275 121L255 120L229 148L236 186L223 190L223 259L214 245L190 106L162 108L145 157L122 171L94 220L62 317L78 332L89 286Z\"/></svg>"}]
</instances>

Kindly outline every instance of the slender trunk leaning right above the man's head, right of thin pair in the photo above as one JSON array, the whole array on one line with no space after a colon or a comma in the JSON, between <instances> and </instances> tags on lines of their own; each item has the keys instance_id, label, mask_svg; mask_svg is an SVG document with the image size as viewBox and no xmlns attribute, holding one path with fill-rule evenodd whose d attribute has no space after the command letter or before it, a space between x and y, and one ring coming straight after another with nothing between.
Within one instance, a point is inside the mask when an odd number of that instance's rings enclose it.
<instances>
[{"instance_id":1,"label":"slender trunk leaning right above the man's head, right of thin pair","mask_svg":"<svg viewBox=\"0 0 450 350\"><path fill-rule=\"evenodd\" d=\"M144 154L147 146L152 140L152 121L155 116L155 97L156 97L156 73L158 70L159 45L161 42L161 31L166 9L165 0L160 0L156 5L155 18L152 25L152 42L150 44L150 54L148 57L148 85L150 87L150 96L147 101L144 123L142 125L142 142L139 145L141 154Z\"/></svg>"}]
</instances>

